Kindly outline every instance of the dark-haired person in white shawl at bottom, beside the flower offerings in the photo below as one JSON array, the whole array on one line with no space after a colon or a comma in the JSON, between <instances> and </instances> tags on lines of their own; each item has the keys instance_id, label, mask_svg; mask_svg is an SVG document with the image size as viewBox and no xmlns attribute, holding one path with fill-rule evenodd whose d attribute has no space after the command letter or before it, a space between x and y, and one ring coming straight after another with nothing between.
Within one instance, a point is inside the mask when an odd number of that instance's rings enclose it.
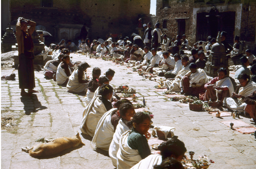
<instances>
[{"instance_id":1,"label":"dark-haired person in white shawl at bottom, beside the flower offerings","mask_svg":"<svg viewBox=\"0 0 256 169\"><path fill-rule=\"evenodd\" d=\"M149 155L131 169L155 169L155 165L160 165L167 158L175 158L181 161L187 151L185 144L178 139L178 136L173 136L170 140L161 143L158 149L160 150L160 155Z\"/></svg>"}]
</instances>

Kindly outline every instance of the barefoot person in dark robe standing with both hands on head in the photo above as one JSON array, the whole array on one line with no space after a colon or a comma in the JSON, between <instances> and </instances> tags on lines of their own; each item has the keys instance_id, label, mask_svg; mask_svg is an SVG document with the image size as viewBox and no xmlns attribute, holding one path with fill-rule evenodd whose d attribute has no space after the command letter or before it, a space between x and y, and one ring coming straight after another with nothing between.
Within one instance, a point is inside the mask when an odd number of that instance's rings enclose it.
<instances>
[{"instance_id":1,"label":"barefoot person in dark robe standing with both hands on head","mask_svg":"<svg viewBox=\"0 0 256 169\"><path fill-rule=\"evenodd\" d=\"M28 28L28 25L30 27ZM30 20L19 18L16 25L16 39L18 43L19 52L19 86L21 89L21 96L29 96L38 91L33 90L35 85L34 74L34 44L32 40L32 33L35 31L36 23ZM28 89L28 93L25 92Z\"/></svg>"}]
</instances>

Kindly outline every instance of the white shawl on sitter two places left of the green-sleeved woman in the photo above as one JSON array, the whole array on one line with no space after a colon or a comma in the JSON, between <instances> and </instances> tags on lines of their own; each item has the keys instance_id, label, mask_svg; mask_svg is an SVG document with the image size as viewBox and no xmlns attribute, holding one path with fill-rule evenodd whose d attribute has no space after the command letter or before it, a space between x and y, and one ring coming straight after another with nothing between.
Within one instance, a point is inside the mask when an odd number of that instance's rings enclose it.
<instances>
[{"instance_id":1,"label":"white shawl on sitter two places left of the green-sleeved woman","mask_svg":"<svg viewBox=\"0 0 256 169\"><path fill-rule=\"evenodd\" d=\"M93 148L96 146L105 151L109 150L110 143L115 133L114 126L111 123L111 117L116 111L117 109L110 109L100 118L91 142Z\"/></svg>"}]
</instances>

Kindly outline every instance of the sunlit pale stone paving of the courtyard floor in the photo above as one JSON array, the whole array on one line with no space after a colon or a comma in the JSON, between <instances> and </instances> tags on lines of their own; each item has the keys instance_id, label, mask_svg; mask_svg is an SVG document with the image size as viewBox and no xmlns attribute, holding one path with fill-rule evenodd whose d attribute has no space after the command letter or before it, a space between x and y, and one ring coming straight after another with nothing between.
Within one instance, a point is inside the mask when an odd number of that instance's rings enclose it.
<instances>
[{"instance_id":1,"label":"sunlit pale stone paving of the courtyard floor","mask_svg":"<svg viewBox=\"0 0 256 169\"><path fill-rule=\"evenodd\" d=\"M198 155L207 154L215 161L209 168L222 169L255 169L256 140L249 134L241 134L231 130L220 121L232 120L232 117L216 118L206 112L190 111L188 104L172 102L156 92L154 81L141 81L142 77L124 66L110 61L89 59L84 55L71 54L74 60L86 61L92 67L100 67L102 75L108 68L116 71L111 84L117 86L127 84L136 88L139 102L145 96L148 108L154 113L153 125L175 127L175 135L179 136L188 151ZM14 69L2 70L2 74L15 73ZM84 136L83 147L69 149L51 158L37 159L25 152L21 147L27 146L39 138L71 137L79 130L84 110L84 96L66 92L67 88L57 85L52 80L45 80L43 72L36 72L36 90L40 93L33 97L21 97L16 81L1 81L2 117L15 117L13 123L17 127L1 130L1 168L114 168L106 151L94 151L90 148L91 137ZM241 117L246 123L249 118ZM196 131L193 128L200 128ZM251 142L248 142L250 140ZM36 142L30 143L34 145ZM16 155L14 153L20 152ZM243 153L241 153L243 152ZM14 156L13 156L14 155ZM186 153L188 155L188 153Z\"/></svg>"}]
</instances>

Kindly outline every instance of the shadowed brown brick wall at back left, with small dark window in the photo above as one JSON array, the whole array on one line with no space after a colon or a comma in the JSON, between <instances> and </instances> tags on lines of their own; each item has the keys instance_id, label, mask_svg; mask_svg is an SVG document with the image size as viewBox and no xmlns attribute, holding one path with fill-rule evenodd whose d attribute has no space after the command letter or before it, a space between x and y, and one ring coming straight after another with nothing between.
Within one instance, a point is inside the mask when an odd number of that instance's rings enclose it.
<instances>
[{"instance_id":1,"label":"shadowed brown brick wall at back left, with small dark window","mask_svg":"<svg viewBox=\"0 0 256 169\"><path fill-rule=\"evenodd\" d=\"M41 0L10 0L11 20L32 19L55 37L59 24L86 23L90 39L98 36L105 39L110 33L130 36L138 26L138 19L150 10L150 0L52 0L52 3L52 7L46 8Z\"/></svg>"}]
</instances>

